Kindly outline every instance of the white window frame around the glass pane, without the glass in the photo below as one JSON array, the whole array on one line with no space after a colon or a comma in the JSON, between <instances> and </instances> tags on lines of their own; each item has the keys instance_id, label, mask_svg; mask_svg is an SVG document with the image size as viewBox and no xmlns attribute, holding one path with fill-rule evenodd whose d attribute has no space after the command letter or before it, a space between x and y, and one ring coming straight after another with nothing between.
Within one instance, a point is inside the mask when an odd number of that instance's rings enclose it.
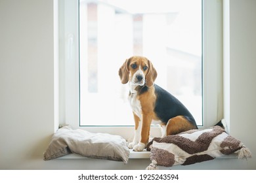
<instances>
[{"instance_id":1,"label":"white window frame around the glass pane, without the glass","mask_svg":"<svg viewBox=\"0 0 256 183\"><path fill-rule=\"evenodd\" d=\"M59 0L58 4L60 124L132 139L133 126L79 126L79 1ZM202 4L203 126L200 128L215 125L223 118L223 5L221 1L207 0ZM159 128L152 127L151 134L160 136Z\"/></svg>"}]
</instances>

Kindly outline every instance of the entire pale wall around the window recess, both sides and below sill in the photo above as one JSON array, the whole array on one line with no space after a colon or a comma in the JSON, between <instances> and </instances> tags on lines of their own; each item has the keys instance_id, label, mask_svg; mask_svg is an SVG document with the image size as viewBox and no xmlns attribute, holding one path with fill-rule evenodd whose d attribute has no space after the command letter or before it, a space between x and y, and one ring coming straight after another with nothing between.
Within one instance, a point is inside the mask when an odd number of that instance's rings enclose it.
<instances>
[{"instance_id":1,"label":"entire pale wall around the window recess, both sides and below sill","mask_svg":"<svg viewBox=\"0 0 256 183\"><path fill-rule=\"evenodd\" d=\"M230 1L230 133L256 154L256 1ZM144 169L98 159L43 161L54 133L53 0L0 1L0 169ZM225 113L228 114L228 113ZM256 158L172 169L256 169Z\"/></svg>"}]
</instances>

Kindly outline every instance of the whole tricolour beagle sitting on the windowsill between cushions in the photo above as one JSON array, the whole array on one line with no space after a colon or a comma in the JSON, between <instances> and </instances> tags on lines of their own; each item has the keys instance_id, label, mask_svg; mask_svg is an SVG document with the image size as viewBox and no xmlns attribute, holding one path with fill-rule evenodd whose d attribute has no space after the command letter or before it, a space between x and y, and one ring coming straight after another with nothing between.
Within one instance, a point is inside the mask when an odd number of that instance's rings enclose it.
<instances>
[{"instance_id":1,"label":"whole tricolour beagle sitting on the windowsill between cushions","mask_svg":"<svg viewBox=\"0 0 256 183\"><path fill-rule=\"evenodd\" d=\"M157 75L151 61L141 56L126 59L119 69L121 83L129 82L135 136L128 147L134 151L142 151L146 147L151 124L161 125L162 137L198 129L192 114L181 101L154 84Z\"/></svg>"}]
</instances>

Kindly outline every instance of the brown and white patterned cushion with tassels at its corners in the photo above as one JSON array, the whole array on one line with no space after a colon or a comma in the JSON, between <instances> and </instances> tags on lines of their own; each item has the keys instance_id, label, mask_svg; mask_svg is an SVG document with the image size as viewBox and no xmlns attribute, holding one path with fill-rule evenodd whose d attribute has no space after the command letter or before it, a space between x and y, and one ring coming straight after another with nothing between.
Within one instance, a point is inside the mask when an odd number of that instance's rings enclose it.
<instances>
[{"instance_id":1,"label":"brown and white patterned cushion with tassels at its corners","mask_svg":"<svg viewBox=\"0 0 256 183\"><path fill-rule=\"evenodd\" d=\"M251 158L249 149L219 126L154 138L148 143L147 150L151 151L152 161L147 169L156 169L158 165L190 165L237 151L238 158Z\"/></svg>"}]
</instances>

